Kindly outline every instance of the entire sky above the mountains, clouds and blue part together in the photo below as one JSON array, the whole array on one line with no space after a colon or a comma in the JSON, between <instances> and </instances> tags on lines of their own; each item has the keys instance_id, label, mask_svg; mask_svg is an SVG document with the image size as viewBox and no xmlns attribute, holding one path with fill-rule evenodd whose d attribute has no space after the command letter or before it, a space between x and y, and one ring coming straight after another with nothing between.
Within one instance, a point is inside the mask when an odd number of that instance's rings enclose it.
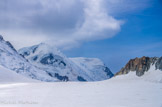
<instances>
[{"instance_id":1,"label":"entire sky above the mountains, clouds and blue part together","mask_svg":"<svg viewBox=\"0 0 162 107\"><path fill-rule=\"evenodd\" d=\"M16 49L41 42L68 57L97 57L118 72L162 56L162 0L1 0L0 34Z\"/></svg>"}]
</instances>

